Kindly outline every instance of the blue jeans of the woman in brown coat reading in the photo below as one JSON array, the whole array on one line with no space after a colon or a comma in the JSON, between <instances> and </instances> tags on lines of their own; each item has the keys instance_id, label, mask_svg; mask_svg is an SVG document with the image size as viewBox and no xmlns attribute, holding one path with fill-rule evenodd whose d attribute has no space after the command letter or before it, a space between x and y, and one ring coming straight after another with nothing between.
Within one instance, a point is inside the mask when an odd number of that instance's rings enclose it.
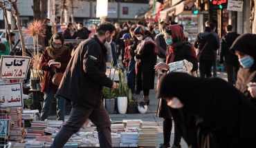
<instances>
[{"instance_id":1,"label":"blue jeans of the woman in brown coat reading","mask_svg":"<svg viewBox=\"0 0 256 148\"><path fill-rule=\"evenodd\" d=\"M41 113L41 120L45 120L48 118L48 114L51 109L51 105L53 102L53 97L56 94L57 89L49 89L48 92L44 95L44 105ZM62 96L57 96L57 120L65 119L65 103L66 99Z\"/></svg>"}]
</instances>

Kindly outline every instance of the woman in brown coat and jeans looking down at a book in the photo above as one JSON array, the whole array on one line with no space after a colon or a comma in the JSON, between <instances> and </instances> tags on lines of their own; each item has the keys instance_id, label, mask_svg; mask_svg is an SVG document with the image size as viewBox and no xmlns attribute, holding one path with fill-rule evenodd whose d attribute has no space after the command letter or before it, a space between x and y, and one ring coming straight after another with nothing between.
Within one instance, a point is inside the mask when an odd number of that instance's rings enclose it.
<instances>
[{"instance_id":1,"label":"woman in brown coat and jeans looking down at a book","mask_svg":"<svg viewBox=\"0 0 256 148\"><path fill-rule=\"evenodd\" d=\"M64 73L70 59L71 52L67 46L64 46L64 36L61 33L53 34L51 37L51 45L44 50L39 65L40 70L45 71L42 82L42 92L44 92L45 95L41 120L48 118L53 98L59 87L58 85L53 84L53 75L57 71ZM52 62L58 62L60 64L50 66ZM64 121L65 103L65 98L57 96L57 120Z\"/></svg>"}]
</instances>

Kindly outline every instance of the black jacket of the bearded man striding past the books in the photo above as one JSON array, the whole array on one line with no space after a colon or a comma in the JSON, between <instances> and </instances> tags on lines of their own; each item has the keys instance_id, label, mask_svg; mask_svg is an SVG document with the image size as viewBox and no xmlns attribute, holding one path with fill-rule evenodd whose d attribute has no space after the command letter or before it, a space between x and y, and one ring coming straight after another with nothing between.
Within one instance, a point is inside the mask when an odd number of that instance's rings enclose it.
<instances>
[{"instance_id":1,"label":"black jacket of the bearded man striding past the books","mask_svg":"<svg viewBox=\"0 0 256 148\"><path fill-rule=\"evenodd\" d=\"M90 109L98 109L102 101L103 86L112 87L107 77L104 54L107 48L93 35L75 50L66 67L57 95Z\"/></svg>"}]
</instances>

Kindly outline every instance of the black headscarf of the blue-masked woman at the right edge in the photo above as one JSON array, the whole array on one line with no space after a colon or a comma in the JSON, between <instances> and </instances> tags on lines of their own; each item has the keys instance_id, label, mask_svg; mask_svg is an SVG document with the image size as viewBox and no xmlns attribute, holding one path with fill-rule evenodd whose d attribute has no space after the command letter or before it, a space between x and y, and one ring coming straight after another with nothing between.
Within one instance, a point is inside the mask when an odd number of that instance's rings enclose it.
<instances>
[{"instance_id":1,"label":"black headscarf of the blue-masked woman at the right edge","mask_svg":"<svg viewBox=\"0 0 256 148\"><path fill-rule=\"evenodd\" d=\"M230 51L234 54L235 50L253 56L255 60L250 68L239 68L236 87L256 105L256 99L250 96L250 92L247 90L249 82L256 82L256 34L243 34L239 36L230 47Z\"/></svg>"}]
</instances>

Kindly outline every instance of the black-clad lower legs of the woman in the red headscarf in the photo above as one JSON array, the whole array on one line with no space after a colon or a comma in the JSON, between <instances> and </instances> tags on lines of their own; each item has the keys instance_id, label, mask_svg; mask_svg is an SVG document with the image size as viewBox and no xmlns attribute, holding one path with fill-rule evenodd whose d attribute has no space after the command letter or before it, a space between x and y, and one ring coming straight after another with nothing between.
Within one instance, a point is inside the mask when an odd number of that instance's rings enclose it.
<instances>
[{"instance_id":1,"label":"black-clad lower legs of the woman in the red headscarf","mask_svg":"<svg viewBox=\"0 0 256 148\"><path fill-rule=\"evenodd\" d=\"M172 134L172 119L163 118L163 143L164 143L164 145L170 144L171 134ZM174 127L174 145L176 147L181 146L181 134L179 134L179 131L175 127Z\"/></svg>"}]
</instances>

